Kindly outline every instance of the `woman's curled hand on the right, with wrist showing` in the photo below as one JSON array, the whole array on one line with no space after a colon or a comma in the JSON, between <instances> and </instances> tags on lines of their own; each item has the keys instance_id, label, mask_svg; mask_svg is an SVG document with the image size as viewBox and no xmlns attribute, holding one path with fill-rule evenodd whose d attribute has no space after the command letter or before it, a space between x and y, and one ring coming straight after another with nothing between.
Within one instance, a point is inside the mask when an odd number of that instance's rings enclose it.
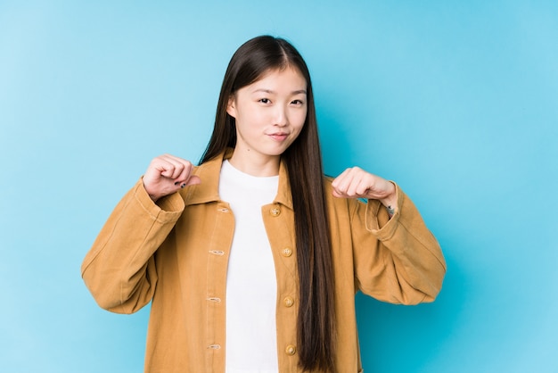
<instances>
[{"instance_id":1,"label":"woman's curled hand on the right, with wrist showing","mask_svg":"<svg viewBox=\"0 0 558 373\"><path fill-rule=\"evenodd\" d=\"M379 200L384 206L395 208L398 196L395 184L358 167L344 170L332 182L333 195L340 198Z\"/></svg>"}]
</instances>

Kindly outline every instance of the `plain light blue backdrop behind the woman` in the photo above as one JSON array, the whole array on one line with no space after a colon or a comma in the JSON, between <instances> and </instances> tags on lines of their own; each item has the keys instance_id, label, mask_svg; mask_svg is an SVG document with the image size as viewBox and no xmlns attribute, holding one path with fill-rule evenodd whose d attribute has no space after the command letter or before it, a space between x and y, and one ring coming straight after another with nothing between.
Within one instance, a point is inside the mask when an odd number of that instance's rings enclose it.
<instances>
[{"instance_id":1,"label":"plain light blue backdrop behind the woman","mask_svg":"<svg viewBox=\"0 0 558 373\"><path fill-rule=\"evenodd\" d=\"M392 178L444 249L435 303L357 295L368 372L558 371L552 1L0 1L0 370L139 372L148 309L80 264L152 157L197 162L234 50L286 37L324 165Z\"/></svg>"}]
</instances>

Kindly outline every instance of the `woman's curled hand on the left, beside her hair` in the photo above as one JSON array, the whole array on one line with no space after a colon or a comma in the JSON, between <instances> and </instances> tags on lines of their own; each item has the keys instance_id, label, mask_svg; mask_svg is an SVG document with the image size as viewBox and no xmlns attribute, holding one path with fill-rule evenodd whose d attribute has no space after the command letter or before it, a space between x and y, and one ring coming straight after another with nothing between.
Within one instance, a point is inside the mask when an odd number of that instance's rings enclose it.
<instances>
[{"instance_id":1,"label":"woman's curled hand on the left, beside her hair","mask_svg":"<svg viewBox=\"0 0 558 373\"><path fill-rule=\"evenodd\" d=\"M193 164L174 155L164 154L154 158L144 174L144 188L153 202L165 195L172 195L187 186L200 184L201 179L192 175Z\"/></svg>"}]
</instances>

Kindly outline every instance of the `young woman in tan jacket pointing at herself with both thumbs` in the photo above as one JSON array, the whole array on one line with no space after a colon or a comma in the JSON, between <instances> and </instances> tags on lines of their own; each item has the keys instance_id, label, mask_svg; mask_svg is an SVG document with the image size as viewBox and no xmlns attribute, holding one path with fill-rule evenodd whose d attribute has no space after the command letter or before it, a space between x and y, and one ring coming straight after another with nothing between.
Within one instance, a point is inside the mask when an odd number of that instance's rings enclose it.
<instances>
[{"instance_id":1,"label":"young woman in tan jacket pointing at herself with both thumbs","mask_svg":"<svg viewBox=\"0 0 558 373\"><path fill-rule=\"evenodd\" d=\"M361 371L355 293L431 302L445 270L394 183L324 178L308 67L263 36L228 65L200 165L152 160L82 276L109 311L152 302L146 372L344 373Z\"/></svg>"}]
</instances>

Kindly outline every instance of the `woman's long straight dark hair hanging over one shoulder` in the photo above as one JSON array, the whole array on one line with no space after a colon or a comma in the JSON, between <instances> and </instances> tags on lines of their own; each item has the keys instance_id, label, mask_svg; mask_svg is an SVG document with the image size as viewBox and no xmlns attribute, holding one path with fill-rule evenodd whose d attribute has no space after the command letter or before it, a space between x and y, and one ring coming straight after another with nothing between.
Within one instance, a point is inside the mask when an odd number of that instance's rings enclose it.
<instances>
[{"instance_id":1,"label":"woman's long straight dark hair hanging over one shoulder","mask_svg":"<svg viewBox=\"0 0 558 373\"><path fill-rule=\"evenodd\" d=\"M332 254L324 197L324 171L316 108L308 66L289 42L254 37L234 53L223 79L215 127L200 164L236 145L234 118L226 112L229 98L270 70L294 68L307 82L308 112L299 137L282 154L291 184L296 234L300 304L297 319L300 368L335 370L335 303Z\"/></svg>"}]
</instances>

